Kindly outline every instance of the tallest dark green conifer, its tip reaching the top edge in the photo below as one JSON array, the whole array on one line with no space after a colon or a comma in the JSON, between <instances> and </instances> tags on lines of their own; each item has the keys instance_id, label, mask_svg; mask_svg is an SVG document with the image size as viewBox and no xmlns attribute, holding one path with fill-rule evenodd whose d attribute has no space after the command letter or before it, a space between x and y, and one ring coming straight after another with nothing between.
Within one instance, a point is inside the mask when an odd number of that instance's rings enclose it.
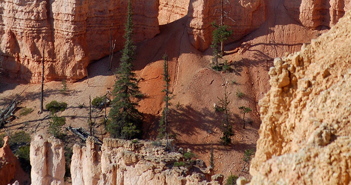
<instances>
[{"instance_id":1,"label":"tallest dark green conifer, its tip reaching the top edge","mask_svg":"<svg viewBox=\"0 0 351 185\"><path fill-rule=\"evenodd\" d=\"M136 46L132 40L132 14L132 2L129 0L127 21L124 29L126 41L113 91L115 98L112 101L110 111L111 121L106 127L112 137L121 139L138 137L142 127L142 114L137 110L137 99L141 98L142 94L137 86L136 74L133 73L133 56Z\"/></svg>"}]
</instances>

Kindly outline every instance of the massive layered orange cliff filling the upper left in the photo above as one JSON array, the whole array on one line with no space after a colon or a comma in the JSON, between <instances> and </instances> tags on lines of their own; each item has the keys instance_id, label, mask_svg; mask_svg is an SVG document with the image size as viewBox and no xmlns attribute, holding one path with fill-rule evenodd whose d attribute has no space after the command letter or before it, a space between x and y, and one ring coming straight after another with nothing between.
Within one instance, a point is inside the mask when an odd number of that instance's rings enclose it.
<instances>
[{"instance_id":1,"label":"massive layered orange cliff filling the upper left","mask_svg":"<svg viewBox=\"0 0 351 185\"><path fill-rule=\"evenodd\" d=\"M109 54L111 28L115 51L122 48L126 7L127 0L1 0L1 68L39 82L45 47L46 81L81 79L90 61ZM135 0L133 10L136 42L159 33L157 0Z\"/></svg>"}]
</instances>

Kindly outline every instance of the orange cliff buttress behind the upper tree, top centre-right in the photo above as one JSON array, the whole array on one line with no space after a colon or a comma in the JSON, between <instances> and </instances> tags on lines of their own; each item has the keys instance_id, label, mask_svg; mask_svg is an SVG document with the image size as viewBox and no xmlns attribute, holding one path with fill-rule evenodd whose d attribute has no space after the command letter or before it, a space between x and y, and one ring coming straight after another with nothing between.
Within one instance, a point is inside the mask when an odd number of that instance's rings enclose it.
<instances>
[{"instance_id":1,"label":"orange cliff buttress behind the upper tree, top centre-right","mask_svg":"<svg viewBox=\"0 0 351 185\"><path fill-rule=\"evenodd\" d=\"M211 22L220 23L221 1L190 0L188 11L188 34L193 46L204 51L211 45L213 28ZM233 30L230 41L238 40L260 27L266 20L264 0L225 1L227 13L224 23Z\"/></svg>"}]
</instances>

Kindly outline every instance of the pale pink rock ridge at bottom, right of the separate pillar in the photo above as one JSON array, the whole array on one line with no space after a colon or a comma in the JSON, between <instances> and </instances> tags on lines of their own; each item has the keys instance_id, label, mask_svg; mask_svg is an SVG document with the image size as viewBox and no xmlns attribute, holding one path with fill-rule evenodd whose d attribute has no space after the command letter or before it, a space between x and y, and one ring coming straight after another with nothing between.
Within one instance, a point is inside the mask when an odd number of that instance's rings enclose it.
<instances>
[{"instance_id":1,"label":"pale pink rock ridge at bottom, right of the separate pillar","mask_svg":"<svg viewBox=\"0 0 351 185\"><path fill-rule=\"evenodd\" d=\"M195 160L192 170L175 167L183 155L167 152L151 142L105 138L101 151L89 138L86 147L73 149L73 185L219 185L223 176L213 177L204 162Z\"/></svg>"}]
</instances>

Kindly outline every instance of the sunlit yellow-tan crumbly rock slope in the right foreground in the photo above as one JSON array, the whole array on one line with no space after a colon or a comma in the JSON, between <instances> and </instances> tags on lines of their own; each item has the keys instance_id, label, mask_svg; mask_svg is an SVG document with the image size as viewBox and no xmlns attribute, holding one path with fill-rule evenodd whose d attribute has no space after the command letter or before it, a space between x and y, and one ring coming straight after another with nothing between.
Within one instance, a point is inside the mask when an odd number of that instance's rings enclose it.
<instances>
[{"instance_id":1,"label":"sunlit yellow-tan crumbly rock slope in the right foreground","mask_svg":"<svg viewBox=\"0 0 351 185\"><path fill-rule=\"evenodd\" d=\"M250 185L351 183L351 12L274 60Z\"/></svg>"}]
</instances>

